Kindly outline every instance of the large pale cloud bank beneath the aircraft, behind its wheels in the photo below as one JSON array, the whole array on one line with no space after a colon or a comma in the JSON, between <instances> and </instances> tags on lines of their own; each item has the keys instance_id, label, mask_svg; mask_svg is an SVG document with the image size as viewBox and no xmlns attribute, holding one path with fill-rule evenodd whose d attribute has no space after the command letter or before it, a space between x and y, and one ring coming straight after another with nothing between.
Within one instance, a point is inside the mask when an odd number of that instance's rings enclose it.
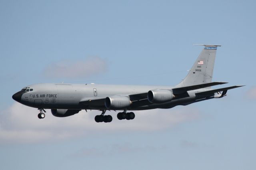
<instances>
[{"instance_id":1,"label":"large pale cloud bank beneath the aircraft, behind its wheels","mask_svg":"<svg viewBox=\"0 0 256 170\"><path fill-rule=\"evenodd\" d=\"M173 127L200 117L198 109L190 106L173 109L135 111L134 120L118 120L116 112L107 111L113 117L111 123L96 123L94 116L100 111L80 111L78 114L58 118L46 110L46 118L38 119L34 108L14 103L0 114L0 142L34 143L60 140L95 132L115 133L127 131L155 131Z\"/></svg>"}]
</instances>

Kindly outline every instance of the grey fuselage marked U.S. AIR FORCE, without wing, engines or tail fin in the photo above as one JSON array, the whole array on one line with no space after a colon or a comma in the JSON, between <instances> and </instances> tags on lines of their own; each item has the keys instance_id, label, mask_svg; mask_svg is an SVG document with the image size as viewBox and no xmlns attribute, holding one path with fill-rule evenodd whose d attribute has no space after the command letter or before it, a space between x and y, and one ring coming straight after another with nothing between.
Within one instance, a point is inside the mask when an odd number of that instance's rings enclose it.
<instances>
[{"instance_id":1,"label":"grey fuselage marked U.S. AIR FORCE, without wing, engines or tail fin","mask_svg":"<svg viewBox=\"0 0 256 170\"><path fill-rule=\"evenodd\" d=\"M172 89L173 87L159 87L159 86L138 86L138 85L100 85L100 84L54 84L54 83L40 83L29 85L23 89L32 89L32 91L25 90L21 95L20 103L41 109L106 109L103 106L88 106L81 104L84 99L102 99L110 96L129 96L138 93L147 93L153 89ZM200 89L206 91L208 89ZM146 109L168 109L176 105L186 105L188 102L196 100L196 91L189 91L187 97L181 99L174 99L167 103L150 104L144 106L130 107L127 110L146 110ZM19 92L18 92L19 93Z\"/></svg>"}]
</instances>

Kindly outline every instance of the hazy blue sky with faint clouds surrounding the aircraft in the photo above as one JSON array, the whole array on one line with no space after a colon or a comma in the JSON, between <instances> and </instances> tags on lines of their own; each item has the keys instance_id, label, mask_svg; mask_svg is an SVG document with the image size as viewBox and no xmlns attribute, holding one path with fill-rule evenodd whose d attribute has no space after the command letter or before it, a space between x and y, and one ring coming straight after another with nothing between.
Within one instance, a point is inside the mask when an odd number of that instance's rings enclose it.
<instances>
[{"instance_id":1,"label":"hazy blue sky with faint clouds surrounding the aircraft","mask_svg":"<svg viewBox=\"0 0 256 170\"><path fill-rule=\"evenodd\" d=\"M0 169L254 170L254 1L0 1ZM33 83L176 85L201 46L220 44L227 97L133 121L56 118L12 95ZM65 71L63 71L65 70ZM222 86L220 86L222 87ZM225 87L225 85L223 85Z\"/></svg>"}]
</instances>

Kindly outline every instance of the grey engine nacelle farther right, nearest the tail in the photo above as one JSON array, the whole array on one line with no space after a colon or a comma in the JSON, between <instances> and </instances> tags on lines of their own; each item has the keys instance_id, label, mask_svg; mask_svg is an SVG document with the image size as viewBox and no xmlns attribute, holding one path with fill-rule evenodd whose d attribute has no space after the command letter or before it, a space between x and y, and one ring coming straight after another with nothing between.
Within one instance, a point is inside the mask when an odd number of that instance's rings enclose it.
<instances>
[{"instance_id":1,"label":"grey engine nacelle farther right, nearest the tail","mask_svg":"<svg viewBox=\"0 0 256 170\"><path fill-rule=\"evenodd\" d=\"M150 90L148 91L148 101L150 103L166 103L171 101L174 95L169 90Z\"/></svg>"}]
</instances>

